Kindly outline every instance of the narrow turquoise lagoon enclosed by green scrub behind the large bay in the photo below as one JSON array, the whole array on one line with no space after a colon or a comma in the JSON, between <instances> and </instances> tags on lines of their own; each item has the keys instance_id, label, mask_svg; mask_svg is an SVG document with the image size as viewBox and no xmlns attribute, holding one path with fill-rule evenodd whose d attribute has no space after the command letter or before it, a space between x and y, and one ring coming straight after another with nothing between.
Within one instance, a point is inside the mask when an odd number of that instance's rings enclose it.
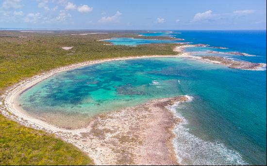
<instances>
[{"instance_id":1,"label":"narrow turquoise lagoon enclosed by green scrub behind the large bay","mask_svg":"<svg viewBox=\"0 0 267 166\"><path fill-rule=\"evenodd\" d=\"M113 45L145 45L145 44L157 44L157 43L181 43L180 40L155 40L155 39L135 39L135 38L112 38L105 40L111 42Z\"/></svg>"}]
</instances>

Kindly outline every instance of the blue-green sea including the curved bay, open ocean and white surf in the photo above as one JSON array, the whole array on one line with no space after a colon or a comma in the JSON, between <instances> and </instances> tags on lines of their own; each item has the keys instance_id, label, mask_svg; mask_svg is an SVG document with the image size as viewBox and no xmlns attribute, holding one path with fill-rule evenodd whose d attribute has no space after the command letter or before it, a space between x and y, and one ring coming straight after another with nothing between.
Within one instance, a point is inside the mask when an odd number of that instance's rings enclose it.
<instances>
[{"instance_id":1,"label":"blue-green sea including the curved bay, open ocean and white surf","mask_svg":"<svg viewBox=\"0 0 267 166\"><path fill-rule=\"evenodd\" d=\"M227 56L266 62L266 31L163 34L194 44L228 47L187 48L196 55L207 49L239 51L255 57ZM149 58L59 73L22 93L19 102L36 117L55 111L93 116L155 98L189 95L194 98L192 102L174 108L184 119L174 130L181 164L266 165L266 86L266 70L230 69L185 58Z\"/></svg>"}]
</instances>

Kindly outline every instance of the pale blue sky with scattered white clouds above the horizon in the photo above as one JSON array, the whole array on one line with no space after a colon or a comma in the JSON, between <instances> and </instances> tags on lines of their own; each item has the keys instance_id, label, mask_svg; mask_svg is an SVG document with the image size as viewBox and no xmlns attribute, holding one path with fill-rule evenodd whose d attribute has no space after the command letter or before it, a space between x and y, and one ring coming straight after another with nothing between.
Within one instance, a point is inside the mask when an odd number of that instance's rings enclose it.
<instances>
[{"instance_id":1,"label":"pale blue sky with scattered white clouds above the horizon","mask_svg":"<svg viewBox=\"0 0 267 166\"><path fill-rule=\"evenodd\" d=\"M0 28L266 30L266 0L0 0Z\"/></svg>"}]
</instances>

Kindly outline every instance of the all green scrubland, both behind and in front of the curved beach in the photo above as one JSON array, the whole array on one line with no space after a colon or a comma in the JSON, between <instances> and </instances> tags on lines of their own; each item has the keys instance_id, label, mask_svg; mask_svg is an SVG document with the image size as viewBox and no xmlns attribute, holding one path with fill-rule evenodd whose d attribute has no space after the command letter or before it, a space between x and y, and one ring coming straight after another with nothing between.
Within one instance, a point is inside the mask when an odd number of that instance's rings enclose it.
<instances>
[{"instance_id":1,"label":"all green scrubland, both behind and in front of the curved beach","mask_svg":"<svg viewBox=\"0 0 267 166\"><path fill-rule=\"evenodd\" d=\"M130 32L22 33L0 31L0 94L9 86L60 66L96 59L139 55L174 55L175 44L103 45L111 37L137 37ZM27 36L27 38L18 38ZM63 50L63 46L73 46ZM53 135L23 127L0 115L0 165L90 165L92 160Z\"/></svg>"}]
</instances>

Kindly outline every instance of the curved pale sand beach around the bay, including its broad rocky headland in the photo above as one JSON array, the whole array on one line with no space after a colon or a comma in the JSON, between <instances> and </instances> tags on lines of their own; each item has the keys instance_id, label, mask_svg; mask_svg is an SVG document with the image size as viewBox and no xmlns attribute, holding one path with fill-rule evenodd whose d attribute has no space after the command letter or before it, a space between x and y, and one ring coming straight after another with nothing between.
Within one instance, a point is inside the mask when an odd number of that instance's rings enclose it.
<instances>
[{"instance_id":1,"label":"curved pale sand beach around the bay, including its broad rocky headland","mask_svg":"<svg viewBox=\"0 0 267 166\"><path fill-rule=\"evenodd\" d=\"M75 130L60 128L46 121L33 118L17 103L17 97L23 91L59 72L111 60L153 57L179 57L179 55L93 60L35 75L12 86L2 95L1 114L27 127L44 130L59 136L85 151L97 165L177 165L178 161L172 145L174 138L172 130L179 119L175 118L166 106L175 102L187 101L189 100L187 97L152 100L140 106L100 114L95 116L87 127ZM116 126L112 124L116 124ZM154 141L150 140L152 137Z\"/></svg>"}]
</instances>

